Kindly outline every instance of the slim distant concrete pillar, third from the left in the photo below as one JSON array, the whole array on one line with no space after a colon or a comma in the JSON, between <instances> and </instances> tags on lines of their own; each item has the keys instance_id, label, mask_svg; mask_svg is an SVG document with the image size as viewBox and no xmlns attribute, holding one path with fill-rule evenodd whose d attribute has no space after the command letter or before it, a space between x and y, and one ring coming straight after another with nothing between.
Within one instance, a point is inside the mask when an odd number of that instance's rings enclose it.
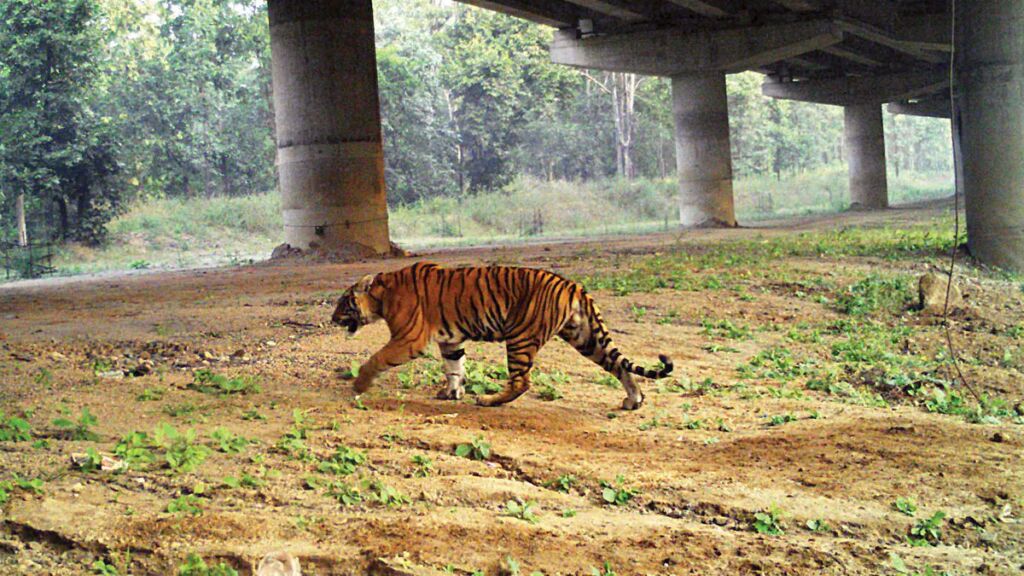
<instances>
[{"instance_id":1,"label":"slim distant concrete pillar, third from the left","mask_svg":"<svg viewBox=\"0 0 1024 576\"><path fill-rule=\"evenodd\" d=\"M874 210L889 207L886 178L886 134L882 106L848 106L843 114L846 163L850 169L850 204Z\"/></svg>"}]
</instances>

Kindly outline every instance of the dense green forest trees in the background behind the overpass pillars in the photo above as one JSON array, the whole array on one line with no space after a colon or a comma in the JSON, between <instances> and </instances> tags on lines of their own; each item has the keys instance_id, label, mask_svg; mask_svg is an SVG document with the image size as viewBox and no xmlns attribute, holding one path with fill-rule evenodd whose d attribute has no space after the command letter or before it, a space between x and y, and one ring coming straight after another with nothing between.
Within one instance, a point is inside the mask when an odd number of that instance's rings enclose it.
<instances>
[{"instance_id":1,"label":"dense green forest trees in the background behind the overpass pillars","mask_svg":"<svg viewBox=\"0 0 1024 576\"><path fill-rule=\"evenodd\" d=\"M517 175L671 177L666 79L551 64L552 31L447 0L375 3L392 205L458 200ZM274 186L265 0L0 3L0 237L96 243L121 206ZM729 77L734 170L842 162L842 111ZM945 170L948 126L889 118L897 169Z\"/></svg>"}]
</instances>

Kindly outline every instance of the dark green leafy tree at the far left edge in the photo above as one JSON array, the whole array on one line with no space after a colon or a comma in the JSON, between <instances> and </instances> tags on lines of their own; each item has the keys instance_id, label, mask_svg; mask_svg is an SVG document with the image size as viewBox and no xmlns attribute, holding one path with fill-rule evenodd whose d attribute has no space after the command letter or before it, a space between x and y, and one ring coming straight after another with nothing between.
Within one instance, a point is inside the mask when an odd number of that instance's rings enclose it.
<instances>
[{"instance_id":1,"label":"dark green leafy tree at the far left edge","mask_svg":"<svg viewBox=\"0 0 1024 576\"><path fill-rule=\"evenodd\" d=\"M93 0L0 4L0 188L25 195L37 234L49 232L41 216L55 208L59 237L87 242L101 239L118 205L108 186L116 146L91 93L100 49L95 13Z\"/></svg>"}]
</instances>

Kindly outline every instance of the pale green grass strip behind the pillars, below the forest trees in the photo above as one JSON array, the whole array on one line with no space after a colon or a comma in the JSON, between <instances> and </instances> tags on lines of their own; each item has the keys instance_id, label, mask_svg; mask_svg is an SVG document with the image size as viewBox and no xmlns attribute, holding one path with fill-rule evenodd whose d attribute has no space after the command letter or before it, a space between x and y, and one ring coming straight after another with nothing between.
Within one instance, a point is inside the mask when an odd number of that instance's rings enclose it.
<instances>
[{"instance_id":1,"label":"pale green grass strip behind the pillars, below the forest trees","mask_svg":"<svg viewBox=\"0 0 1024 576\"><path fill-rule=\"evenodd\" d=\"M753 221L842 210L846 188L846 171L840 166L781 180L740 177L735 180L737 216ZM891 200L900 203L949 196L952 186L945 174L904 172L890 175L889 190ZM435 198L393 206L389 223L395 242L413 249L643 234L676 228L677 194L672 178L549 182L522 177L461 202ZM69 244L58 249L58 274L263 259L283 241L281 198L267 192L238 198L148 199L129 206L108 231L110 241L102 248Z\"/></svg>"}]
</instances>

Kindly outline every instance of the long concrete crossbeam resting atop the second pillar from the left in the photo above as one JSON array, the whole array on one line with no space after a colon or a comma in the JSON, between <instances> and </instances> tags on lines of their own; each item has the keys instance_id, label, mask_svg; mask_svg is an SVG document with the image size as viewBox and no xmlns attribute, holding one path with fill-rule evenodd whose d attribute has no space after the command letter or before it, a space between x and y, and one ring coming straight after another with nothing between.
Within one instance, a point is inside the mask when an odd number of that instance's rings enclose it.
<instances>
[{"instance_id":1,"label":"long concrete crossbeam resting atop the second pillar from the left","mask_svg":"<svg viewBox=\"0 0 1024 576\"><path fill-rule=\"evenodd\" d=\"M676 76L697 72L742 72L831 46L843 34L824 20L709 32L664 29L577 38L555 34L551 59L579 68Z\"/></svg>"}]
</instances>

